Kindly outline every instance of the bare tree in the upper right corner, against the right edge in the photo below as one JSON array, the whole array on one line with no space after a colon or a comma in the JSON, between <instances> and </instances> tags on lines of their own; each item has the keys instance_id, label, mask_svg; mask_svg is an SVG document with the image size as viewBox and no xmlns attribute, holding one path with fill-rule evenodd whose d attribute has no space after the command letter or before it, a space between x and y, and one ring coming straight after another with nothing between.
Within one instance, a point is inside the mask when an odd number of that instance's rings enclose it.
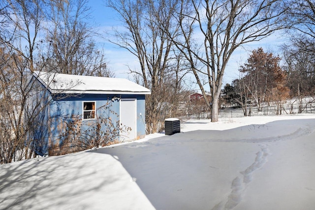
<instances>
[{"instance_id":1,"label":"bare tree in the upper right corner, against the right edge","mask_svg":"<svg viewBox=\"0 0 315 210\"><path fill-rule=\"evenodd\" d=\"M289 41L283 45L285 68L289 76L291 94L314 94L315 63L315 2L290 0L286 12ZM313 89L313 90L312 90Z\"/></svg>"}]
</instances>

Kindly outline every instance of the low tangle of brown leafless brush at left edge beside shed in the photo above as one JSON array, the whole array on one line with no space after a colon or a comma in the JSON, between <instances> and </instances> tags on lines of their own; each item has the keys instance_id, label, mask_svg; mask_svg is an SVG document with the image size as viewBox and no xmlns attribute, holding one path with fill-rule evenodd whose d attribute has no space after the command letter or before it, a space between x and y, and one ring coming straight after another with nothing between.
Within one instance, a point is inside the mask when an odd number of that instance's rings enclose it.
<instances>
[{"instance_id":1,"label":"low tangle of brown leafless brush at left edge beside shed","mask_svg":"<svg viewBox=\"0 0 315 210\"><path fill-rule=\"evenodd\" d=\"M32 157L34 119L30 112L28 99L34 88L30 82L30 62L22 55L17 55L3 48L0 69L0 159L1 163ZM36 105L34 102L33 105Z\"/></svg>"}]
</instances>

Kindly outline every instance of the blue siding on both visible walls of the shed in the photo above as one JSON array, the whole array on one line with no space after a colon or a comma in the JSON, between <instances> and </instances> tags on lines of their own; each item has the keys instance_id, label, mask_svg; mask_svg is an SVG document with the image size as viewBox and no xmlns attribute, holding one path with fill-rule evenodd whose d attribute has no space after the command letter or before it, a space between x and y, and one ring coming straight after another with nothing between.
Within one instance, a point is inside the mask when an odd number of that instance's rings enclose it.
<instances>
[{"instance_id":1,"label":"blue siding on both visible walls of the shed","mask_svg":"<svg viewBox=\"0 0 315 210\"><path fill-rule=\"evenodd\" d=\"M43 113L46 117L43 117L42 124L45 125L46 129L44 132L40 132L38 135L42 135L45 139L45 143L37 149L37 153L44 154L48 151L48 145L61 146L65 139L65 135L72 131L69 131L69 127L73 131L82 132L85 131L82 137L85 140L93 138L93 132L95 132L95 119L82 120L83 119L83 101L95 101L96 116L111 119L111 122L116 124L119 122L120 115L120 101L112 100L113 97L118 98L136 98L137 100L137 139L145 137L145 95L136 94L81 94L66 97L65 95L59 94L54 95L53 100L48 106L46 113ZM106 106L105 106L106 105ZM141 113L141 115L140 115ZM48 116L48 117L47 117ZM72 120L79 118L82 120L81 124L76 124L77 121ZM75 125L75 126L74 126ZM101 124L101 130L105 130L106 124ZM92 133L90 136L89 133ZM71 134L75 135L75 134ZM119 141L119 136L115 138Z\"/></svg>"}]
</instances>

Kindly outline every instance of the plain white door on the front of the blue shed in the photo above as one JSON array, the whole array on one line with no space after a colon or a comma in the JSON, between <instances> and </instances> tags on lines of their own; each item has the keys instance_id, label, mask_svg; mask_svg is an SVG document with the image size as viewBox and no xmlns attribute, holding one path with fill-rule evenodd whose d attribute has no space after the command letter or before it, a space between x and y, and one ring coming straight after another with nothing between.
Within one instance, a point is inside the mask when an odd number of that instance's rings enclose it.
<instances>
[{"instance_id":1,"label":"plain white door on the front of the blue shed","mask_svg":"<svg viewBox=\"0 0 315 210\"><path fill-rule=\"evenodd\" d=\"M137 120L136 120L136 99L121 99L120 102L120 140L132 140L136 138ZM125 127L131 128L126 130Z\"/></svg>"}]
</instances>

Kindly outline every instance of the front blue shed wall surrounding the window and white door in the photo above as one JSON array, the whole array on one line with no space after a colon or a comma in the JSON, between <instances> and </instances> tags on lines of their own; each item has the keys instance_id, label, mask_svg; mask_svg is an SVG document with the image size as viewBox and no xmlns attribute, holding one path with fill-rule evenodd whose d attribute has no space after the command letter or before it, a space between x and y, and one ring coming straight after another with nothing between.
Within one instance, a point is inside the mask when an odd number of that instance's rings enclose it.
<instances>
[{"instance_id":1,"label":"front blue shed wall surrounding the window and white door","mask_svg":"<svg viewBox=\"0 0 315 210\"><path fill-rule=\"evenodd\" d=\"M83 101L95 101L96 118L107 119L98 123L99 131L107 132L108 129L115 131L115 126L119 124L120 103L121 98L136 98L136 139L145 137L145 95L114 95L114 94L83 94L71 97L63 97L62 95L54 96L54 102L50 105L50 136L51 145L73 144L73 140L78 138L75 132L81 132L80 138L84 141L95 140L96 120L82 120ZM75 120L81 119L81 120ZM108 121L110 119L110 121ZM79 122L79 123L78 123ZM99 122L99 121L98 121ZM118 123L118 124L117 124ZM115 132L109 132L111 134ZM103 136L106 134L103 133ZM116 142L120 142L119 136L106 136L113 138ZM69 142L70 141L70 142Z\"/></svg>"}]
</instances>

